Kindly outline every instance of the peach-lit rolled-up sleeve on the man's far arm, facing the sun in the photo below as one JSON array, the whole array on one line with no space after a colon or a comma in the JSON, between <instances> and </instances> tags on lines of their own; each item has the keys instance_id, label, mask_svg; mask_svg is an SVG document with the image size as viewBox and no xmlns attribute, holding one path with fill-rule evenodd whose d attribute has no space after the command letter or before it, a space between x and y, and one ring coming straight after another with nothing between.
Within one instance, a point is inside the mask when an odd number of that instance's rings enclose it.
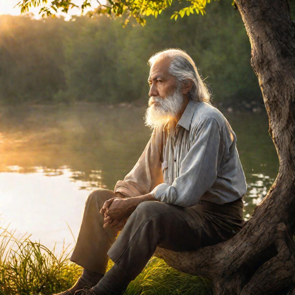
<instances>
[{"instance_id":1,"label":"peach-lit rolled-up sleeve on the man's far arm, facing the sun","mask_svg":"<svg viewBox=\"0 0 295 295\"><path fill-rule=\"evenodd\" d=\"M154 128L143 153L132 170L116 183L114 192L120 192L128 197L148 194L155 186L163 182L161 171L161 128Z\"/></svg>"}]
</instances>

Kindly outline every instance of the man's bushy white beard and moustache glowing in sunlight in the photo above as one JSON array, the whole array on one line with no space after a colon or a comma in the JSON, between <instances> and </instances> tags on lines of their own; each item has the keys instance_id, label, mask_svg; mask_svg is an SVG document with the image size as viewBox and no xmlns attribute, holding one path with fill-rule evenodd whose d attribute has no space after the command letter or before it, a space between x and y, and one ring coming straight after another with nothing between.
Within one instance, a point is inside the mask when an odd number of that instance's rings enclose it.
<instances>
[{"instance_id":1,"label":"man's bushy white beard and moustache glowing in sunlight","mask_svg":"<svg viewBox=\"0 0 295 295\"><path fill-rule=\"evenodd\" d=\"M172 121L181 110L183 95L177 89L165 98L152 96L145 112L145 126L153 129L162 123Z\"/></svg>"}]
</instances>

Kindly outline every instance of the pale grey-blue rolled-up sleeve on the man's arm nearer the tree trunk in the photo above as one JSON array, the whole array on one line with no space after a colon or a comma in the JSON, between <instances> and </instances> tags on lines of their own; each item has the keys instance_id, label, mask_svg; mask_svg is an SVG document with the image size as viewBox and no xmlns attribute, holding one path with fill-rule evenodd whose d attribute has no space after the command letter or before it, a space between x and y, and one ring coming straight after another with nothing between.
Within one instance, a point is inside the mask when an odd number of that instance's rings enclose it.
<instances>
[{"instance_id":1,"label":"pale grey-blue rolled-up sleeve on the man's arm nearer the tree trunk","mask_svg":"<svg viewBox=\"0 0 295 295\"><path fill-rule=\"evenodd\" d=\"M200 118L192 132L191 148L172 185L161 183L151 194L161 202L191 207L213 185L224 152L219 126L213 118Z\"/></svg>"}]
</instances>

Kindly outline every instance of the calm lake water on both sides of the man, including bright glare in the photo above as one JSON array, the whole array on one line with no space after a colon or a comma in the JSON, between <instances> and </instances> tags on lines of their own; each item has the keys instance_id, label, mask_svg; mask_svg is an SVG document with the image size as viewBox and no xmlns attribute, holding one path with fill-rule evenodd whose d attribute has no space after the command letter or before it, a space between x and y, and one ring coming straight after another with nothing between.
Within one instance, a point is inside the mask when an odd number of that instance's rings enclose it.
<instances>
[{"instance_id":1,"label":"calm lake water on both sides of the man, including bright glare","mask_svg":"<svg viewBox=\"0 0 295 295\"><path fill-rule=\"evenodd\" d=\"M95 104L2 110L0 225L11 223L49 248L72 248L88 194L113 190L145 148L151 130L144 112L145 106ZM276 178L278 159L264 112L224 115L248 183L247 220Z\"/></svg>"}]
</instances>

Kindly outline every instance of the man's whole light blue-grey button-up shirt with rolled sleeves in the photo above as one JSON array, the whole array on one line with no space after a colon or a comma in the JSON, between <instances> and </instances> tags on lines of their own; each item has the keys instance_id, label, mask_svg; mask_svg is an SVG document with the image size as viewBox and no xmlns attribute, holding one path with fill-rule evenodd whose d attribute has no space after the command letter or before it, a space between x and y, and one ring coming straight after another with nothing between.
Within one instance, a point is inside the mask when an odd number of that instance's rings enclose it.
<instances>
[{"instance_id":1,"label":"man's whole light blue-grey button-up shirt with rolled sleeves","mask_svg":"<svg viewBox=\"0 0 295 295\"><path fill-rule=\"evenodd\" d=\"M217 108L191 100L178 123L154 128L134 168L114 191L127 196L151 193L181 207L200 199L235 201L247 191L236 135Z\"/></svg>"}]
</instances>

